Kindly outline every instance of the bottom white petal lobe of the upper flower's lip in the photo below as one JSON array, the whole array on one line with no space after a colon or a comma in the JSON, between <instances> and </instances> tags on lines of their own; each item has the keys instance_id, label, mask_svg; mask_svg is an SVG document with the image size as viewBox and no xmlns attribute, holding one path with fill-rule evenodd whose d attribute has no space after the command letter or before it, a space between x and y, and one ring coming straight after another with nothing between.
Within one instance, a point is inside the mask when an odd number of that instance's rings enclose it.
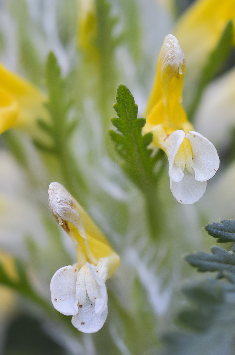
<instances>
[{"instance_id":1,"label":"bottom white petal lobe of the upper flower's lip","mask_svg":"<svg viewBox=\"0 0 235 355\"><path fill-rule=\"evenodd\" d=\"M175 182L170 179L170 190L177 201L184 204L197 202L206 191L207 182L197 181L193 174L184 170L184 178Z\"/></svg>"}]
</instances>

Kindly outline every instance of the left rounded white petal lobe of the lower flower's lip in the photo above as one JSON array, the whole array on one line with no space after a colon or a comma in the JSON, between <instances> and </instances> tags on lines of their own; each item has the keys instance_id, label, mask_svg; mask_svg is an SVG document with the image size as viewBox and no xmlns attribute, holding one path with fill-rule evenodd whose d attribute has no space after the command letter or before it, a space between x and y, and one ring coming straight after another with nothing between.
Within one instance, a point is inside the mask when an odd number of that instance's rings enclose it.
<instances>
[{"instance_id":1,"label":"left rounded white petal lobe of the lower flower's lip","mask_svg":"<svg viewBox=\"0 0 235 355\"><path fill-rule=\"evenodd\" d=\"M51 302L65 316L76 315L76 269L69 265L55 272L50 282Z\"/></svg>"}]
</instances>

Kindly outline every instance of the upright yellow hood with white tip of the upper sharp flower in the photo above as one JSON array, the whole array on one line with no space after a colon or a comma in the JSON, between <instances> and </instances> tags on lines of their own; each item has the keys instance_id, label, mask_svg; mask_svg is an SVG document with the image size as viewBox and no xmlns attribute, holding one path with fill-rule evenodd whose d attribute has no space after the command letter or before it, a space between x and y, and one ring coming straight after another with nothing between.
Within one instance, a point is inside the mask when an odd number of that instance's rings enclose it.
<instances>
[{"instance_id":1,"label":"upright yellow hood with white tip of the upper sharp flower","mask_svg":"<svg viewBox=\"0 0 235 355\"><path fill-rule=\"evenodd\" d=\"M153 144L164 151L164 140L173 131L188 132L193 129L181 105L185 69L184 52L178 40L169 34L164 39L158 57L144 127L144 132L153 131Z\"/></svg>"}]
</instances>

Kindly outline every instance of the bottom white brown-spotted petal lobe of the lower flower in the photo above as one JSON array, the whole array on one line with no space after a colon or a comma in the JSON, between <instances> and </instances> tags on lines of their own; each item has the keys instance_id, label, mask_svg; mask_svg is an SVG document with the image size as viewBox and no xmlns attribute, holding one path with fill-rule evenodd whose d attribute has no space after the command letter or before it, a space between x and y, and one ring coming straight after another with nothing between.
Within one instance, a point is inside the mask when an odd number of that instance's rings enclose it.
<instances>
[{"instance_id":1,"label":"bottom white brown-spotted petal lobe of the lower flower","mask_svg":"<svg viewBox=\"0 0 235 355\"><path fill-rule=\"evenodd\" d=\"M78 308L78 314L72 317L72 324L83 333L98 332L104 325L108 315L108 305L101 312L95 312L95 304L88 295L81 308Z\"/></svg>"}]
</instances>

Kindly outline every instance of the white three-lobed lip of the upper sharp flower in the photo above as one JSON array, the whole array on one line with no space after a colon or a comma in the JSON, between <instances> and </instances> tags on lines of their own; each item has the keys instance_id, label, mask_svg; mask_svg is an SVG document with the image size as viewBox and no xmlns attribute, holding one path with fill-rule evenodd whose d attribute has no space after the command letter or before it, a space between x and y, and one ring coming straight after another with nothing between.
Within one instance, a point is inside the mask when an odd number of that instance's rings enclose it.
<instances>
[{"instance_id":1,"label":"white three-lobed lip of the upper sharp flower","mask_svg":"<svg viewBox=\"0 0 235 355\"><path fill-rule=\"evenodd\" d=\"M192 159L184 171L175 164L175 156L184 140L191 144ZM195 131L186 133L174 131L165 140L169 160L170 189L177 201L192 204L200 200L206 191L206 181L214 176L219 168L219 157L213 144ZM186 158L185 158L186 160ZM188 163L188 164L189 164ZM187 161L186 161L187 164Z\"/></svg>"}]
</instances>

